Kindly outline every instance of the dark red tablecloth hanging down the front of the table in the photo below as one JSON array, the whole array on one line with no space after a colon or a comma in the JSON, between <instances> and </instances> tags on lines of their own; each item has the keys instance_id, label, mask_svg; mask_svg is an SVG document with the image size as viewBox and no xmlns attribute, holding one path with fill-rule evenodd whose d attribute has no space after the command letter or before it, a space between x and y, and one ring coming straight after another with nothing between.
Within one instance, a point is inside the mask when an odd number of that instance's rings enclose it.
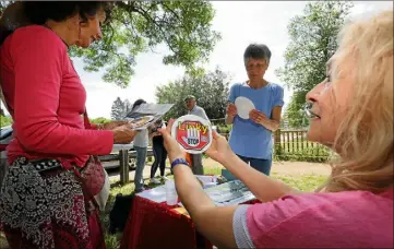
<instances>
[{"instance_id":1,"label":"dark red tablecloth hanging down the front of the table","mask_svg":"<svg viewBox=\"0 0 394 249\"><path fill-rule=\"evenodd\" d=\"M256 200L248 202L255 203ZM168 206L135 195L121 241L121 249L212 248L193 222Z\"/></svg>"}]
</instances>

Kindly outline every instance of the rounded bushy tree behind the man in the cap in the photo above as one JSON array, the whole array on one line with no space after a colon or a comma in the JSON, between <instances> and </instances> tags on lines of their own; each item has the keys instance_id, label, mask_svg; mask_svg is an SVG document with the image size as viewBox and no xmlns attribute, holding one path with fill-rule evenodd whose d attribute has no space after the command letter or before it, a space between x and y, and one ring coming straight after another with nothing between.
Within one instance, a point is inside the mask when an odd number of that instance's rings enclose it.
<instances>
[{"instance_id":1,"label":"rounded bushy tree behind the man in the cap","mask_svg":"<svg viewBox=\"0 0 394 249\"><path fill-rule=\"evenodd\" d=\"M182 79L156 87L159 104L175 104L164 117L178 118L187 114L184 97L194 95L198 105L205 109L210 119L224 118L226 114L230 78L220 69L206 74L186 74Z\"/></svg>"}]
</instances>

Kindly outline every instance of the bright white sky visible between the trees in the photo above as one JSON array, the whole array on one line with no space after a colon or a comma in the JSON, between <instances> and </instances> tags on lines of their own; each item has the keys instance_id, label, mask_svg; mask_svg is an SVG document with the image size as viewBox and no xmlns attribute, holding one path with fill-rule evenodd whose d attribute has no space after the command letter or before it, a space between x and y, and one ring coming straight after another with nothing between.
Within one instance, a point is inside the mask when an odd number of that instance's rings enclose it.
<instances>
[{"instance_id":1,"label":"bright white sky visible between the trees","mask_svg":"<svg viewBox=\"0 0 394 249\"><path fill-rule=\"evenodd\" d=\"M274 71L284 66L284 52L289 44L287 25L291 17L302 14L307 2L302 1L213 1L216 15L212 28L222 34L211 54L207 70L219 67L231 75L232 83L247 80L242 55L250 43L266 44L272 51L270 68L265 79L282 86L284 82ZM391 1L357 1L350 16L363 16L380 10L393 9ZM112 102L119 96L133 103L144 98L155 103L155 88L180 79L183 69L162 63L166 46L158 46L155 52L145 52L136 57L135 74L127 88L120 88L102 80L100 73L84 72L80 59L73 59L76 71L87 91L87 110L91 118L110 118ZM291 92L285 87L285 103L288 103Z\"/></svg>"}]
</instances>

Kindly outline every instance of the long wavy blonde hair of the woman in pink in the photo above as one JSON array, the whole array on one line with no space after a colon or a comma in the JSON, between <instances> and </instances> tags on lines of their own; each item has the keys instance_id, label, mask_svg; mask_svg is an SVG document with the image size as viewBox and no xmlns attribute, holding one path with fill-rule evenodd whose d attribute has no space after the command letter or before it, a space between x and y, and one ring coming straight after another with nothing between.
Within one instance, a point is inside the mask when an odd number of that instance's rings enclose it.
<instances>
[{"instance_id":1,"label":"long wavy blonde hair of the woman in pink","mask_svg":"<svg viewBox=\"0 0 394 249\"><path fill-rule=\"evenodd\" d=\"M393 186L393 11L345 26L334 58L335 76L351 58L355 86L333 145L341 156L318 191L382 192Z\"/></svg>"}]
</instances>

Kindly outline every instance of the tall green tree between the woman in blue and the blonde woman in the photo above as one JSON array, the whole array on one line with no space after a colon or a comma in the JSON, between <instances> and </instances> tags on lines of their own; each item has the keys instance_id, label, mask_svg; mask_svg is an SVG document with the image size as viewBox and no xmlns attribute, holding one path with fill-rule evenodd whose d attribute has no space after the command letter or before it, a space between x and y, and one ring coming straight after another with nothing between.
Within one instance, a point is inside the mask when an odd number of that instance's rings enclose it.
<instances>
[{"instance_id":1,"label":"tall green tree between the woman in blue and the blonde woman","mask_svg":"<svg viewBox=\"0 0 394 249\"><path fill-rule=\"evenodd\" d=\"M337 34L351 8L353 3L348 1L310 2L302 15L291 19L285 67L276 71L295 93L285 110L290 126L302 124L300 110L306 94L325 79L325 64L337 48Z\"/></svg>"}]
</instances>

